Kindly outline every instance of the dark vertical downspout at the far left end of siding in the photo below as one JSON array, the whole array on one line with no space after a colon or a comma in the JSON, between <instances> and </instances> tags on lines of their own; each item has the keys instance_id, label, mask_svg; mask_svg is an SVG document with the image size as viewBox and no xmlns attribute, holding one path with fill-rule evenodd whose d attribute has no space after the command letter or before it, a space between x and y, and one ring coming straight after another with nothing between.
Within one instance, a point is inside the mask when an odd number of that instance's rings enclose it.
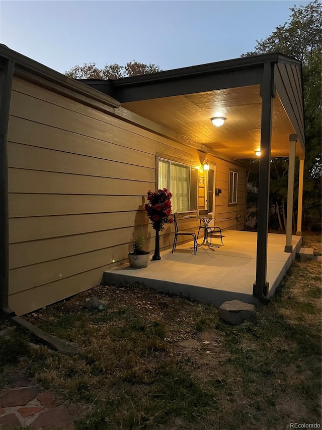
<instances>
[{"instance_id":1,"label":"dark vertical downspout at the far left end of siding","mask_svg":"<svg viewBox=\"0 0 322 430\"><path fill-rule=\"evenodd\" d=\"M13 74L14 62L0 58L0 320L10 313L7 134Z\"/></svg>"}]
</instances>

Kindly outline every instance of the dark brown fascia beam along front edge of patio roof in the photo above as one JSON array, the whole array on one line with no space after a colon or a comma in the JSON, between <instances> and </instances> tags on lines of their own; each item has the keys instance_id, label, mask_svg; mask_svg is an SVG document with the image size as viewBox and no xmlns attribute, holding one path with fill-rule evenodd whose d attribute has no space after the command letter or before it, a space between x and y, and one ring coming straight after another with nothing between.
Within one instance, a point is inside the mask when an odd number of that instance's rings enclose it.
<instances>
[{"instance_id":1,"label":"dark brown fascia beam along front edge of patio roof","mask_svg":"<svg viewBox=\"0 0 322 430\"><path fill-rule=\"evenodd\" d=\"M290 57L273 53L110 80L108 86L102 86L97 80L83 82L126 103L257 85L262 80L263 65L279 62L300 64Z\"/></svg>"}]
</instances>

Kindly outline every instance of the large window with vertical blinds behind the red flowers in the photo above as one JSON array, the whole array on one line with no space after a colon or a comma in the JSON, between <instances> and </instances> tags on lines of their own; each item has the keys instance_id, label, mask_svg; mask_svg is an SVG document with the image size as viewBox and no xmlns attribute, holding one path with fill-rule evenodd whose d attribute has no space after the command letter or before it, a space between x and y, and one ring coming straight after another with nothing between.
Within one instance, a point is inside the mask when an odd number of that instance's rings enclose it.
<instances>
[{"instance_id":1,"label":"large window with vertical blinds behind the red flowers","mask_svg":"<svg viewBox=\"0 0 322 430\"><path fill-rule=\"evenodd\" d=\"M158 188L172 193L172 211L197 210L198 169L159 158Z\"/></svg>"}]
</instances>

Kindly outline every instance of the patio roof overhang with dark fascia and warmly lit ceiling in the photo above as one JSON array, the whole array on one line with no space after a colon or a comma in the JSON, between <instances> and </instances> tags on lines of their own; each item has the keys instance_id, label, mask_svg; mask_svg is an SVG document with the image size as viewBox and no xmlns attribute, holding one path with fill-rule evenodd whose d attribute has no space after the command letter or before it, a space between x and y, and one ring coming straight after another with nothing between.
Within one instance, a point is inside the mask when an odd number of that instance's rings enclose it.
<instances>
[{"instance_id":1,"label":"patio roof overhang with dark fascia and warmly lit ceiling","mask_svg":"<svg viewBox=\"0 0 322 430\"><path fill-rule=\"evenodd\" d=\"M255 158L261 142L261 83L264 64L274 65L272 157L304 158L305 131L301 64L278 53L169 70L116 80L82 82L121 102L121 106L224 157ZM224 116L222 127L210 118Z\"/></svg>"}]
</instances>

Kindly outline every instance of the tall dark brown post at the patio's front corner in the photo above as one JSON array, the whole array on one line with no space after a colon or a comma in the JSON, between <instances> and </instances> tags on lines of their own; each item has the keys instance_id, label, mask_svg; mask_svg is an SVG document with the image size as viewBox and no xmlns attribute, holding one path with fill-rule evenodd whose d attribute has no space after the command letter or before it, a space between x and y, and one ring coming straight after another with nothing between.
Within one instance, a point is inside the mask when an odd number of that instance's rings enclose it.
<instances>
[{"instance_id":1,"label":"tall dark brown post at the patio's front corner","mask_svg":"<svg viewBox=\"0 0 322 430\"><path fill-rule=\"evenodd\" d=\"M267 297L268 282L266 282L266 271L273 111L272 99L274 97L274 63L264 64L260 95L262 97L261 158L258 190L256 282L253 287L253 294L258 297L262 303L268 304L270 300Z\"/></svg>"}]
</instances>

